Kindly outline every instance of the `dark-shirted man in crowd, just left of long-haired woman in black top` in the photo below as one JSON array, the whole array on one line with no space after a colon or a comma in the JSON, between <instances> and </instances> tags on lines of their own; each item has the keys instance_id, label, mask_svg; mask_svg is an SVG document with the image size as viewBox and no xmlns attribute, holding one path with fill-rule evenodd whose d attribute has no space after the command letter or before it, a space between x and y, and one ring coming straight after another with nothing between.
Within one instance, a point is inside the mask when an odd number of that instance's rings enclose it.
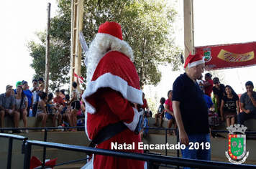
<instances>
[{"instance_id":1,"label":"dark-shirted man in crowd, just left of long-haired woman in black top","mask_svg":"<svg viewBox=\"0 0 256 169\"><path fill-rule=\"evenodd\" d=\"M214 77L214 87L212 87L212 91L214 92L215 98L216 98L216 102L217 102L217 110L218 110L218 115L219 117L221 117L221 100L222 97L225 95L225 85L221 84L219 82L219 78L218 77Z\"/></svg>"}]
</instances>

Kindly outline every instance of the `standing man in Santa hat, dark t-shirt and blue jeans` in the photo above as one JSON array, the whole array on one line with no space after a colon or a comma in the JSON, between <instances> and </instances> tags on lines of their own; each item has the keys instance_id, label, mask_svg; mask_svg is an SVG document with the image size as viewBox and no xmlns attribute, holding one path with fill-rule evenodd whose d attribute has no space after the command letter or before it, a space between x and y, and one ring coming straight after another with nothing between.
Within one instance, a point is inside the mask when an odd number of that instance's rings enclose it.
<instances>
[{"instance_id":1,"label":"standing man in Santa hat, dark t-shirt and blue jeans","mask_svg":"<svg viewBox=\"0 0 256 169\"><path fill-rule=\"evenodd\" d=\"M211 160L211 150L199 146L196 150L188 150L190 143L209 145L208 108L204 92L200 90L196 79L204 72L204 59L200 54L189 55L184 68L188 72L180 74L173 83L173 111L180 133L180 144L186 149L181 150L183 158ZM185 167L186 168L186 167Z\"/></svg>"}]
</instances>

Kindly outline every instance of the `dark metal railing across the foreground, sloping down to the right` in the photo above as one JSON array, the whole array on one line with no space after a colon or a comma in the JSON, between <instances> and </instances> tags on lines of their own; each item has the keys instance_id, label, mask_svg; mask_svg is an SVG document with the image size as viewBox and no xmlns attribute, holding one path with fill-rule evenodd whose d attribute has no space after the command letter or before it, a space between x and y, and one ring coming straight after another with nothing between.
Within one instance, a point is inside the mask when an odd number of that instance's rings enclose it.
<instances>
[{"instance_id":1,"label":"dark metal railing across the foreground, sloping down to the right","mask_svg":"<svg viewBox=\"0 0 256 169\"><path fill-rule=\"evenodd\" d=\"M254 168L255 169L256 168L255 165L235 165L232 163L221 163L221 162L206 161L206 160L192 160L192 159L186 159L186 158L174 158L174 157L168 157L168 156L150 155L150 154L141 154L141 153L129 153L129 152L116 151L116 150L87 148L87 147L77 146L77 145L65 145L60 143L27 140L25 145L25 153L24 153L24 169L27 169L30 166L32 145L42 146L47 148L58 148L62 150L71 150L71 151L76 151L81 153L108 155L116 158L142 160L147 162L148 169L152 169L154 163L161 163L161 164L167 164L167 165L180 165L180 166L186 166L191 168L206 168L206 169L209 169L209 168L214 168L214 169Z\"/></svg>"}]
</instances>

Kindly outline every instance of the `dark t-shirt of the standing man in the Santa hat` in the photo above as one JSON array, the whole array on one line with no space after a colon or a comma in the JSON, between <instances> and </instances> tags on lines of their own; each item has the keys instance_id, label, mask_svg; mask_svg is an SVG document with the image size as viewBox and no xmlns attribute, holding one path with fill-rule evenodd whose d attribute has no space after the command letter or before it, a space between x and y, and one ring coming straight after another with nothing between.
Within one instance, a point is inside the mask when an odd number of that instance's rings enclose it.
<instances>
[{"instance_id":1,"label":"dark t-shirt of the standing man in the Santa hat","mask_svg":"<svg viewBox=\"0 0 256 169\"><path fill-rule=\"evenodd\" d=\"M187 134L209 133L208 108L204 92L186 73L173 83L173 101L180 102L180 113Z\"/></svg>"}]
</instances>

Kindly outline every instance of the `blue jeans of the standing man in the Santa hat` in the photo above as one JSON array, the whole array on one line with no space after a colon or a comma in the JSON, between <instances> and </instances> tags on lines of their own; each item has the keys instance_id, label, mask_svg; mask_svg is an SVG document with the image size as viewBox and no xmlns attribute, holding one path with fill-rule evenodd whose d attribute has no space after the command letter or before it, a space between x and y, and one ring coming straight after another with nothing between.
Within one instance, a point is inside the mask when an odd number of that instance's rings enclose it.
<instances>
[{"instance_id":1,"label":"blue jeans of the standing man in the Santa hat","mask_svg":"<svg viewBox=\"0 0 256 169\"><path fill-rule=\"evenodd\" d=\"M196 160L211 160L211 148L209 148L209 150L206 150L206 143L211 144L209 133L188 135L188 140L189 146L186 147L185 150L181 150L183 158L191 158ZM189 150L189 148L191 148L192 150ZM189 168L184 167L184 169Z\"/></svg>"}]
</instances>

